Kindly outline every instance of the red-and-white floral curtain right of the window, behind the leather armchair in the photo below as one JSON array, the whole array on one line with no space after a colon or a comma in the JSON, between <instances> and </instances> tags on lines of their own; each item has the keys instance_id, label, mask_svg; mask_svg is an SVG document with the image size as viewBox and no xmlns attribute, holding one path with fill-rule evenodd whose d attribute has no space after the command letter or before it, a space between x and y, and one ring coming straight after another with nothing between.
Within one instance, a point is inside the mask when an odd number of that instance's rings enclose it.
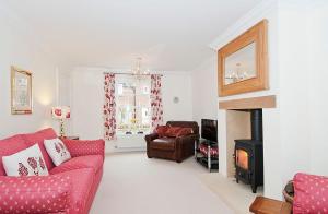
<instances>
[{"instance_id":1,"label":"red-and-white floral curtain right of the window, behind the leather armchair","mask_svg":"<svg viewBox=\"0 0 328 214\"><path fill-rule=\"evenodd\" d=\"M162 81L161 75L151 75L151 114L152 129L163 123Z\"/></svg>"}]
</instances>

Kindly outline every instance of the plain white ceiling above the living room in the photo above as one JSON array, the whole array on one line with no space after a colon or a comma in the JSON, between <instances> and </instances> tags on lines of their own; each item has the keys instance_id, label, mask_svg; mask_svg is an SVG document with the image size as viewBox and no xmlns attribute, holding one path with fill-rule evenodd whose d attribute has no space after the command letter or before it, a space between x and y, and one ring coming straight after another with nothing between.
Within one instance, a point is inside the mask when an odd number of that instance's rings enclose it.
<instances>
[{"instance_id":1,"label":"plain white ceiling above the living room","mask_svg":"<svg viewBox=\"0 0 328 214\"><path fill-rule=\"evenodd\" d=\"M261 0L2 0L59 66L190 71L216 36Z\"/></svg>"}]
</instances>

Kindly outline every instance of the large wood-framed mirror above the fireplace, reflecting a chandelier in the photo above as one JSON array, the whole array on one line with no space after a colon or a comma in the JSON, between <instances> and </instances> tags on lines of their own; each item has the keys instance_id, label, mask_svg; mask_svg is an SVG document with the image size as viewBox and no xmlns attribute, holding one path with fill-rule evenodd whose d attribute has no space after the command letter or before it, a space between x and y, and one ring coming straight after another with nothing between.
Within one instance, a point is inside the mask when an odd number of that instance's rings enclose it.
<instances>
[{"instance_id":1,"label":"large wood-framed mirror above the fireplace, reflecting a chandelier","mask_svg":"<svg viewBox=\"0 0 328 214\"><path fill-rule=\"evenodd\" d=\"M267 34L262 20L218 51L219 96L269 88Z\"/></svg>"}]
</instances>

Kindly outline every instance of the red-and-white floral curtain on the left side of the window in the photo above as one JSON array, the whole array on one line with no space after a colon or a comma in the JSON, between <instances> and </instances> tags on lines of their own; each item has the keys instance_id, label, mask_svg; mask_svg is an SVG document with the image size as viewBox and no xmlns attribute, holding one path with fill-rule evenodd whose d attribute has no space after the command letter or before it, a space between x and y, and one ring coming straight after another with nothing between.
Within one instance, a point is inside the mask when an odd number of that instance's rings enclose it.
<instances>
[{"instance_id":1,"label":"red-and-white floral curtain on the left side of the window","mask_svg":"<svg viewBox=\"0 0 328 214\"><path fill-rule=\"evenodd\" d=\"M115 74L105 73L105 104L104 104L104 139L116 139L116 103L115 103Z\"/></svg>"}]
</instances>

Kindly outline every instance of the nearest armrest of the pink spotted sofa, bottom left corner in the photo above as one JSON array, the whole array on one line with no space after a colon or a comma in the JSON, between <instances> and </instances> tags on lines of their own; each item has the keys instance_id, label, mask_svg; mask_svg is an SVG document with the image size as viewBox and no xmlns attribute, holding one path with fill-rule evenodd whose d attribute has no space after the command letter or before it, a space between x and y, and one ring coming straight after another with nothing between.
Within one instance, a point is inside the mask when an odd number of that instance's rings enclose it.
<instances>
[{"instance_id":1,"label":"nearest armrest of the pink spotted sofa, bottom left corner","mask_svg":"<svg viewBox=\"0 0 328 214\"><path fill-rule=\"evenodd\" d=\"M63 175L0 176L0 213L67 213L70 186Z\"/></svg>"}]
</instances>

